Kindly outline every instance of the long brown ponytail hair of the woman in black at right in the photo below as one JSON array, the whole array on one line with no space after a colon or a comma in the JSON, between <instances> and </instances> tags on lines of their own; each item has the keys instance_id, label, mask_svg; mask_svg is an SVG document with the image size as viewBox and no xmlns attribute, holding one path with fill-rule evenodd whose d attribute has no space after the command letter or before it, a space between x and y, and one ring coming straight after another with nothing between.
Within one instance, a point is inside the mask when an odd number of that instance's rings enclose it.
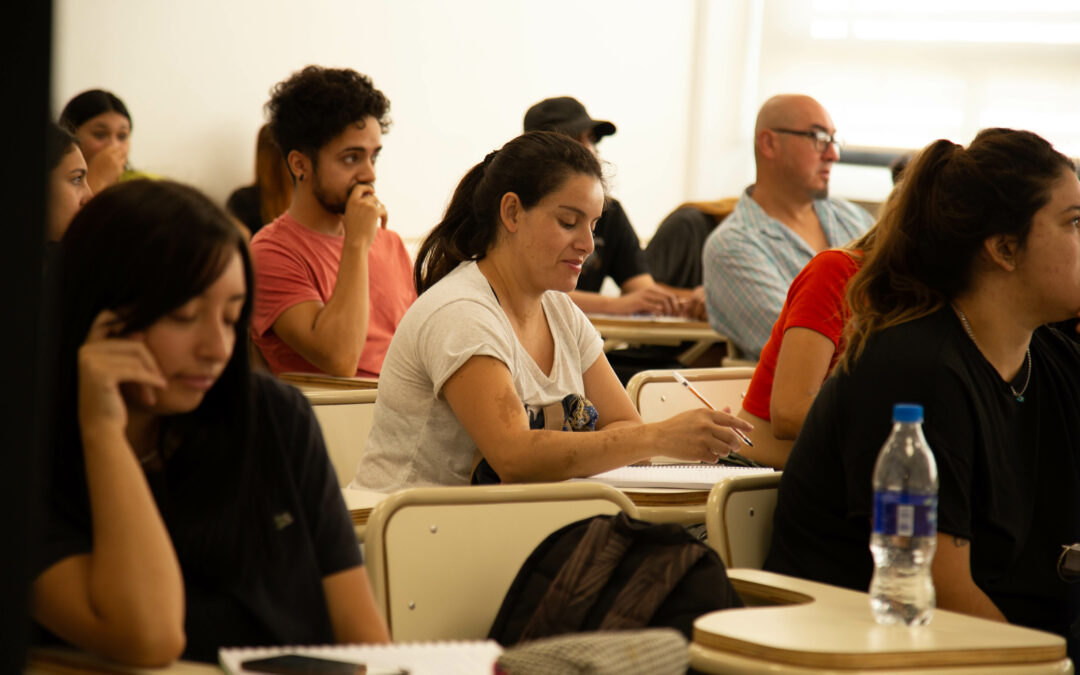
<instances>
[{"instance_id":1,"label":"long brown ponytail hair of the woman in black at right","mask_svg":"<svg viewBox=\"0 0 1080 675\"><path fill-rule=\"evenodd\" d=\"M876 226L877 241L848 284L853 364L879 330L936 311L968 289L987 238L1023 244L1035 213L1072 162L1026 131L986 129L968 148L935 140L904 170Z\"/></svg>"}]
</instances>

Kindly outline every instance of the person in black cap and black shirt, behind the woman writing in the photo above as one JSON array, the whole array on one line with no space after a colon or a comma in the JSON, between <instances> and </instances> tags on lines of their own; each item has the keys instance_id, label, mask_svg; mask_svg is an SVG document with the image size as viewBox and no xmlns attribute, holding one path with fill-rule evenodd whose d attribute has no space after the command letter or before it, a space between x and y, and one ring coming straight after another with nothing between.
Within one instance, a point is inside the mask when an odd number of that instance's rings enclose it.
<instances>
[{"instance_id":1,"label":"person in black cap and black shirt, behind the woman writing","mask_svg":"<svg viewBox=\"0 0 1080 675\"><path fill-rule=\"evenodd\" d=\"M566 134L596 154L596 144L616 132L615 124L594 120L585 107L570 96L545 98L525 113L525 131L554 131ZM621 295L600 295L604 278L610 276ZM593 231L593 253L585 260L577 289L570 292L573 302L586 313L608 314L679 314L704 319L704 302L694 302L687 293L664 287L652 279L646 266L637 233L619 200L609 198L604 215Z\"/></svg>"}]
</instances>

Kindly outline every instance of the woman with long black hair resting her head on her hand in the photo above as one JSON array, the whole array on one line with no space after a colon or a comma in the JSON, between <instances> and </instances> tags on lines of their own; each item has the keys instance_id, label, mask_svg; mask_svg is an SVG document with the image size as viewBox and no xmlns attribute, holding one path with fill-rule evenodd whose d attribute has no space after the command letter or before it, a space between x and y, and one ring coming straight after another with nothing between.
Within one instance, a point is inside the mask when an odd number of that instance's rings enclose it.
<instances>
[{"instance_id":1,"label":"woman with long black hair resting her head on her hand","mask_svg":"<svg viewBox=\"0 0 1080 675\"><path fill-rule=\"evenodd\" d=\"M37 622L139 665L387 640L310 407L249 370L230 218L136 180L87 203L62 247Z\"/></svg>"}]
</instances>

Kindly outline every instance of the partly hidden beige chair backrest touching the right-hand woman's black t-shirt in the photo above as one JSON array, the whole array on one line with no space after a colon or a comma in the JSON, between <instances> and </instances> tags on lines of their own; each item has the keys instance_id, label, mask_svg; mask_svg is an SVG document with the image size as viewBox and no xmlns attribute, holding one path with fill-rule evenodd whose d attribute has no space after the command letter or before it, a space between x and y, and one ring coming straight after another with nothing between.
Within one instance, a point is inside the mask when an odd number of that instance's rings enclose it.
<instances>
[{"instance_id":1,"label":"partly hidden beige chair backrest touching the right-hand woman's black t-shirt","mask_svg":"<svg viewBox=\"0 0 1080 675\"><path fill-rule=\"evenodd\" d=\"M705 504L708 545L728 568L761 569L772 540L781 472L737 476L713 486Z\"/></svg>"}]
</instances>

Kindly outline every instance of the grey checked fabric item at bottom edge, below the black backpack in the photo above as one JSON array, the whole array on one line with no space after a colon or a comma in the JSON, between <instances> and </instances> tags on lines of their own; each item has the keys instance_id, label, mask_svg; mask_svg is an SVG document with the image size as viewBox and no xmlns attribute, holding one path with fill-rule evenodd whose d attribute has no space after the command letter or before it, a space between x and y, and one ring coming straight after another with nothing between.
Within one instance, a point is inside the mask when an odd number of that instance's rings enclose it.
<instances>
[{"instance_id":1,"label":"grey checked fabric item at bottom edge, below the black backpack","mask_svg":"<svg viewBox=\"0 0 1080 675\"><path fill-rule=\"evenodd\" d=\"M686 638L674 629L569 633L499 657L507 675L684 675L689 664Z\"/></svg>"}]
</instances>

